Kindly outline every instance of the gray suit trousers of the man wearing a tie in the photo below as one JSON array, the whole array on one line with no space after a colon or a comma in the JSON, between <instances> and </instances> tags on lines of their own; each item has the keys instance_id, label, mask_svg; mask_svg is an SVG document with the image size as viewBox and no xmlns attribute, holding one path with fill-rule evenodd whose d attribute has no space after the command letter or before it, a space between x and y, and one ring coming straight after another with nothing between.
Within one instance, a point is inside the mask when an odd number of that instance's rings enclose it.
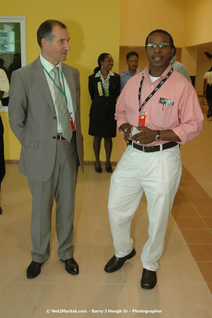
<instances>
[{"instance_id":1,"label":"gray suit trousers of the man wearing a tie","mask_svg":"<svg viewBox=\"0 0 212 318\"><path fill-rule=\"evenodd\" d=\"M54 197L57 254L62 260L73 257L73 221L78 167L76 136L73 136L71 143L57 140L55 166L50 180L42 182L28 179L33 196L31 238L32 258L35 262L44 263L50 255L51 211Z\"/></svg>"}]
</instances>

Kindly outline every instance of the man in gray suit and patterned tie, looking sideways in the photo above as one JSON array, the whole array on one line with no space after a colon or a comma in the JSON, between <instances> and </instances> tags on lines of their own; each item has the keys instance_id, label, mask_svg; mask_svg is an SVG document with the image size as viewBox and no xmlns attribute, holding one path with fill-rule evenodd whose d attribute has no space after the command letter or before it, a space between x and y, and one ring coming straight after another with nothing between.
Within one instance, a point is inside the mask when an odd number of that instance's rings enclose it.
<instances>
[{"instance_id":1,"label":"man in gray suit and patterned tie, looking sideways","mask_svg":"<svg viewBox=\"0 0 212 318\"><path fill-rule=\"evenodd\" d=\"M74 201L78 166L83 169L80 86L76 68L66 60L69 33L62 22L47 20L37 31L40 56L12 74L9 122L21 143L19 172L33 196L32 259L27 278L41 272L50 255L51 210L56 201L57 254L70 274L73 258Z\"/></svg>"}]
</instances>

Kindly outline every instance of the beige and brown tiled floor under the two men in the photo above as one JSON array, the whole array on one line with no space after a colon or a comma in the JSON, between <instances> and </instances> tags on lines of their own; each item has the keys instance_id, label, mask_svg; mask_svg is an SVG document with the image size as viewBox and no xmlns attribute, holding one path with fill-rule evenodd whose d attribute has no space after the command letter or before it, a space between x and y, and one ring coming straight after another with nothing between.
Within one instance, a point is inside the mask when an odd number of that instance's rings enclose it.
<instances>
[{"instance_id":1,"label":"beige and brown tiled floor under the two men","mask_svg":"<svg viewBox=\"0 0 212 318\"><path fill-rule=\"evenodd\" d=\"M211 135L212 123L207 120L203 136L205 130ZM212 317L212 187L211 174L207 172L211 167L205 165L209 161L204 156L204 164L199 158L195 161L199 143L198 138L192 146L181 149L183 176L169 219L158 284L153 290L140 288L140 253L148 235L145 197L132 222L136 256L115 273L103 270L113 255L107 215L110 174L104 167L103 173L98 174L94 166L85 166L84 174L79 171L77 183L74 256L79 263L79 275L69 275L56 255L53 209L51 257L41 274L28 280L25 271L31 261L32 199L26 178L17 172L16 165L8 165L2 187L4 211L0 217L0 317ZM87 313L46 313L47 309Z\"/></svg>"}]
</instances>

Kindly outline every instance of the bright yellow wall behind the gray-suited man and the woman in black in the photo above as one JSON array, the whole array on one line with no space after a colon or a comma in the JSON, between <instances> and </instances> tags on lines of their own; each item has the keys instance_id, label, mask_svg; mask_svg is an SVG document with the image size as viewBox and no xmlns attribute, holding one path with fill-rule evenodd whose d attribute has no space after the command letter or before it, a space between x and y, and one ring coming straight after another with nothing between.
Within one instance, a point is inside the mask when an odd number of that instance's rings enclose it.
<instances>
[{"instance_id":1,"label":"bright yellow wall behind the gray-suited man and the woman in black","mask_svg":"<svg viewBox=\"0 0 212 318\"><path fill-rule=\"evenodd\" d=\"M64 0L61 6L56 1L41 1L35 3L20 0L5 2L1 8L2 16L26 17L26 57L27 64L40 54L36 32L39 25L47 19L64 22L69 30L71 51L67 63L77 67L81 78L81 124L84 137L85 160L94 160L93 137L88 136L90 97L88 93L88 76L97 66L97 58L103 52L108 52L114 59L113 71L118 73L119 56L119 0ZM1 113L5 125L5 157L19 159L20 146L8 125L8 114ZM102 145L103 146L103 145ZM101 160L105 160L102 147ZM113 138L111 160L116 160L116 138Z\"/></svg>"}]
</instances>

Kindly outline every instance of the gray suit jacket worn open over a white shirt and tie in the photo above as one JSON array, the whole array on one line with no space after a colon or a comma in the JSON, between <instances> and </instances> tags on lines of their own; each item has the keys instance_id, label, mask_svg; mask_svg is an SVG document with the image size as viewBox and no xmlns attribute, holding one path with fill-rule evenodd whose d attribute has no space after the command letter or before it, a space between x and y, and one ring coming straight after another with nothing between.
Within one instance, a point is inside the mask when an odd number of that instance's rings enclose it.
<instances>
[{"instance_id":1,"label":"gray suit jacket worn open over a white shirt and tie","mask_svg":"<svg viewBox=\"0 0 212 318\"><path fill-rule=\"evenodd\" d=\"M83 169L79 71L64 63L62 68L72 95L76 151ZM19 172L34 180L48 181L55 163L57 119L40 57L13 72L9 96L9 123L22 145Z\"/></svg>"}]
</instances>

